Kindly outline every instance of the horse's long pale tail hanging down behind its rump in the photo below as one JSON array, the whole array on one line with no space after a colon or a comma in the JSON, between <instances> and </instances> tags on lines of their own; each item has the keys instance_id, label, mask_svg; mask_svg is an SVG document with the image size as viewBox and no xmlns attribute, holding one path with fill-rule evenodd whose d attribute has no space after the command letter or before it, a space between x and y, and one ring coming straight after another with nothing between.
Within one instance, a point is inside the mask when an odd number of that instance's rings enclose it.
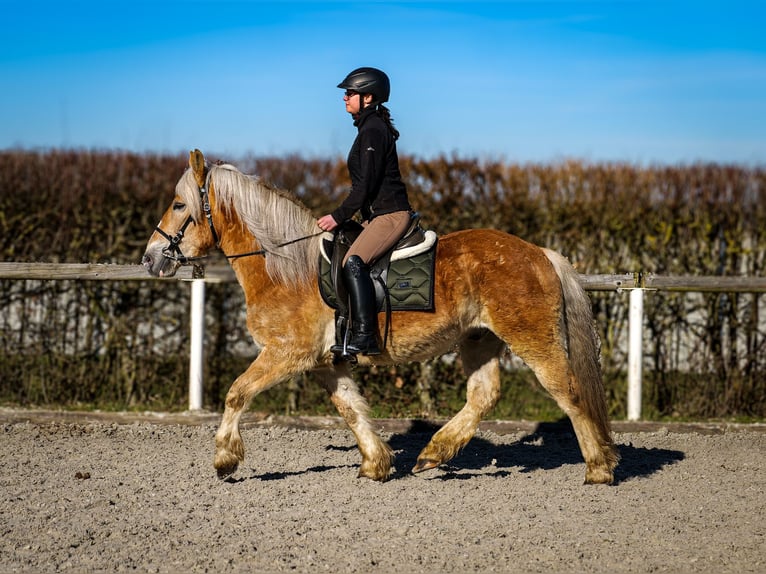
<instances>
[{"instance_id":1,"label":"horse's long pale tail hanging down behind its rump","mask_svg":"<svg viewBox=\"0 0 766 574\"><path fill-rule=\"evenodd\" d=\"M599 363L600 339L593 325L590 297L580 283L578 273L561 254L543 249L561 281L562 336L567 346L569 364L580 383L583 406L602 427L607 444L611 444L609 417Z\"/></svg>"}]
</instances>

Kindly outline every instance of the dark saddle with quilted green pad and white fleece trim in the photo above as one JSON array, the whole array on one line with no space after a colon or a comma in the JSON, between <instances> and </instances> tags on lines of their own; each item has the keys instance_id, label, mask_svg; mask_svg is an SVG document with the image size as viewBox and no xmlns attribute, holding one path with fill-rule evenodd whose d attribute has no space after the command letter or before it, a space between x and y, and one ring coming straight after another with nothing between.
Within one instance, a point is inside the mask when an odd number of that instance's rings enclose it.
<instances>
[{"instance_id":1,"label":"dark saddle with quilted green pad and white fleece trim","mask_svg":"<svg viewBox=\"0 0 766 574\"><path fill-rule=\"evenodd\" d=\"M363 229L348 221L335 233L325 233L320 242L319 292L329 307L345 316L348 293L341 277L343 258ZM413 213L402 238L370 266L379 312L433 311L436 244L436 233L423 230L420 216Z\"/></svg>"}]
</instances>

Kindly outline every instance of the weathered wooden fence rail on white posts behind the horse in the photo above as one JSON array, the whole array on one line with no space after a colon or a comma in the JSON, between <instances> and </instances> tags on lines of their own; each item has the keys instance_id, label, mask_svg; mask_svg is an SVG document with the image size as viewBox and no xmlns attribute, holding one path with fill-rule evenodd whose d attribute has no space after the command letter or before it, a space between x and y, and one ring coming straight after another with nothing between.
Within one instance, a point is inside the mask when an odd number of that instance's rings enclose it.
<instances>
[{"instance_id":1,"label":"weathered wooden fence rail on white posts behind the horse","mask_svg":"<svg viewBox=\"0 0 766 574\"><path fill-rule=\"evenodd\" d=\"M227 268L210 268L194 278L182 267L172 279L147 274L141 265L91 263L0 262L0 279L77 281L189 281L191 282L191 348L189 352L189 410L202 408L205 283L235 281ZM587 291L630 291L628 315L628 420L641 419L644 293L646 291L765 293L766 277L657 276L644 273L581 275Z\"/></svg>"}]
</instances>

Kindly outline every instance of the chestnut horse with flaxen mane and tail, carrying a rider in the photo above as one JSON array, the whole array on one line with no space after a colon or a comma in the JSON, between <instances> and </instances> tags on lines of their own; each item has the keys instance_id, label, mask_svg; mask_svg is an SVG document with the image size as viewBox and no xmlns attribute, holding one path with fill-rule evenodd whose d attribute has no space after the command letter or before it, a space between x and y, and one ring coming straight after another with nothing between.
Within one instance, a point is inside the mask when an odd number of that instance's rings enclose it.
<instances>
[{"instance_id":1,"label":"chestnut horse with flaxen mane and tail, carrying a rider","mask_svg":"<svg viewBox=\"0 0 766 574\"><path fill-rule=\"evenodd\" d=\"M226 396L215 436L218 476L228 477L244 460L239 421L253 397L310 370L356 437L359 476L386 480L393 451L373 429L348 365L333 362L330 352L334 312L317 285L321 238L314 216L291 194L231 165L208 166L199 150L189 165L143 264L167 277L218 246L245 292L247 326L260 352ZM611 483L618 455L598 340L590 300L569 262L518 237L473 229L440 238L435 273L435 310L393 312L383 354L359 357L360 365L384 365L460 353L466 404L434 434L413 472L446 463L473 437L499 398L500 358L510 347L571 419L585 482Z\"/></svg>"}]
</instances>

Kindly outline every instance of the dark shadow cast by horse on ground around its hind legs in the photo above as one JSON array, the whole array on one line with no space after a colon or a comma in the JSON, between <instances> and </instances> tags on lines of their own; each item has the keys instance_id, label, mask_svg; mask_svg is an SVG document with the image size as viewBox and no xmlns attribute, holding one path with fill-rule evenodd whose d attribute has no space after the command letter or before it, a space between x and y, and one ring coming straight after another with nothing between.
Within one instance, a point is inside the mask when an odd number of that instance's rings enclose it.
<instances>
[{"instance_id":1,"label":"dark shadow cast by horse on ground around its hind legs","mask_svg":"<svg viewBox=\"0 0 766 574\"><path fill-rule=\"evenodd\" d=\"M396 454L396 471L392 479L410 476L417 456L439 426L418 421L406 432L394 434L388 441ZM635 447L618 444L620 463L614 482L651 476L662 468L684 459L678 450ZM569 419L540 423L511 444L495 444L475 436L466 447L446 465L442 465L440 480L465 480L479 475L507 476L535 470L551 470L568 464L584 464L577 438ZM494 470L487 472L487 468ZM477 471L477 472L471 472ZM481 471L481 472L478 472Z\"/></svg>"}]
</instances>

